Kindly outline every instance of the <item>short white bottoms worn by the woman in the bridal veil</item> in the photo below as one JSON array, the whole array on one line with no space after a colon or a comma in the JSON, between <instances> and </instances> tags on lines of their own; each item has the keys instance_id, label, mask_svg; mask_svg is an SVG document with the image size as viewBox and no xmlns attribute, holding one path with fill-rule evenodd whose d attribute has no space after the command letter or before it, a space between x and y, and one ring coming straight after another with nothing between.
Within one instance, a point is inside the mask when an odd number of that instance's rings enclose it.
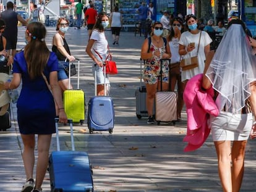
<instances>
[{"instance_id":1,"label":"short white bottoms worn by the woman in the bridal veil","mask_svg":"<svg viewBox=\"0 0 256 192\"><path fill-rule=\"evenodd\" d=\"M218 117L210 117L213 141L244 141L248 140L252 129L252 114L232 114L221 111Z\"/></svg>"}]
</instances>

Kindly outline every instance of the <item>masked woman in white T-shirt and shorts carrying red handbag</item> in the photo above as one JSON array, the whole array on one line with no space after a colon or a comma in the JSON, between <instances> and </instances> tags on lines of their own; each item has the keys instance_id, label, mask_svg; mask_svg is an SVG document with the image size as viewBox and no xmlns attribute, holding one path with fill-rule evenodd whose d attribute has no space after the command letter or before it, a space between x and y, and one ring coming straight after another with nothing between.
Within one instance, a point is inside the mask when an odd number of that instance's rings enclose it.
<instances>
[{"instance_id":1,"label":"masked woman in white T-shirt and shorts carrying red handbag","mask_svg":"<svg viewBox=\"0 0 256 192\"><path fill-rule=\"evenodd\" d=\"M98 14L98 19L93 27L87 48L85 51L91 57L93 77L96 78L96 93L98 96L104 95L104 83L107 85L107 95L109 94L109 77L106 74L104 81L103 62L107 57L108 41L105 36L105 28L109 25L108 15L105 12ZM102 59L101 59L102 58ZM95 77L96 70L96 77Z\"/></svg>"}]
</instances>

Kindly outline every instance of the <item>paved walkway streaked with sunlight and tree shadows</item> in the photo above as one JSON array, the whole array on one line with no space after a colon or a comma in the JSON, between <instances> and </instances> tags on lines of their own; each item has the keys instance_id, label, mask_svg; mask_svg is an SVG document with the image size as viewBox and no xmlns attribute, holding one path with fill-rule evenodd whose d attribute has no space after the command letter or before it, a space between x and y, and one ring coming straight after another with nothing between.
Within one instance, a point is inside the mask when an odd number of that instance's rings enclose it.
<instances>
[{"instance_id":1,"label":"paved walkway streaked with sunlight and tree shadows","mask_svg":"<svg viewBox=\"0 0 256 192\"><path fill-rule=\"evenodd\" d=\"M19 27L19 45L25 43L24 27ZM51 48L55 28L48 28L46 42ZM121 32L119 46L112 45L111 32L106 31L113 59L119 73L111 77L111 97L116 113L113 134L95 131L87 125L74 125L75 149L87 151L93 166L95 191L221 191L215 148L209 136L202 148L183 152L186 143L186 113L182 122L173 125L147 125L147 119L135 115L135 90L139 86L140 47L143 37ZM94 94L91 61L85 54L88 34L85 28L70 28L67 43L75 57L81 60L80 88L88 104ZM75 84L72 79L72 84ZM20 191L25 182L21 157L22 141L17 126L16 107L12 104L12 128L0 133L0 191ZM85 120L86 122L86 120ZM81 133L80 129L85 129ZM69 127L60 125L61 149L70 149ZM256 191L255 140L249 140L245 159L244 182L241 191ZM56 150L53 136L51 151ZM72 177L70 175L70 177ZM50 191L49 174L43 190Z\"/></svg>"}]
</instances>

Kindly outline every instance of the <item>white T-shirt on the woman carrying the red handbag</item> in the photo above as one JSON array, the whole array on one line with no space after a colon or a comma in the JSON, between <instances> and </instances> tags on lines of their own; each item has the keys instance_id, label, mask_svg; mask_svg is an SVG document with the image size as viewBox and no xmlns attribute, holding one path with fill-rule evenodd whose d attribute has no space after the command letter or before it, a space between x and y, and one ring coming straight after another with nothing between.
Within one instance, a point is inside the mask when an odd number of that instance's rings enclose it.
<instances>
[{"instance_id":1,"label":"white T-shirt on the woman carrying the red handbag","mask_svg":"<svg viewBox=\"0 0 256 192\"><path fill-rule=\"evenodd\" d=\"M103 58L102 61L105 61L108 51L108 41L106 40L105 33L98 30L93 30L90 40L95 40L92 47L94 56L100 60L100 57L98 56L98 54L100 54L100 56ZM93 49L95 49L98 54L96 54Z\"/></svg>"}]
</instances>

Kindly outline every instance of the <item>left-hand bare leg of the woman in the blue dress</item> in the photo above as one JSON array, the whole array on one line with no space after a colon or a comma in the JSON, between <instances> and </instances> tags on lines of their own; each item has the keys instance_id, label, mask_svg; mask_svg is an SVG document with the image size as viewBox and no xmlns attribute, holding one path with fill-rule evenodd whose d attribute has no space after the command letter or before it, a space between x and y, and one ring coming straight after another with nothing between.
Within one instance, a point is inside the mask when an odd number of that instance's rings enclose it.
<instances>
[{"instance_id":1,"label":"left-hand bare leg of the woman in the blue dress","mask_svg":"<svg viewBox=\"0 0 256 192\"><path fill-rule=\"evenodd\" d=\"M21 134L24 150L22 152L22 159L25 168L27 180L33 178L33 168L35 165L35 135Z\"/></svg>"}]
</instances>

